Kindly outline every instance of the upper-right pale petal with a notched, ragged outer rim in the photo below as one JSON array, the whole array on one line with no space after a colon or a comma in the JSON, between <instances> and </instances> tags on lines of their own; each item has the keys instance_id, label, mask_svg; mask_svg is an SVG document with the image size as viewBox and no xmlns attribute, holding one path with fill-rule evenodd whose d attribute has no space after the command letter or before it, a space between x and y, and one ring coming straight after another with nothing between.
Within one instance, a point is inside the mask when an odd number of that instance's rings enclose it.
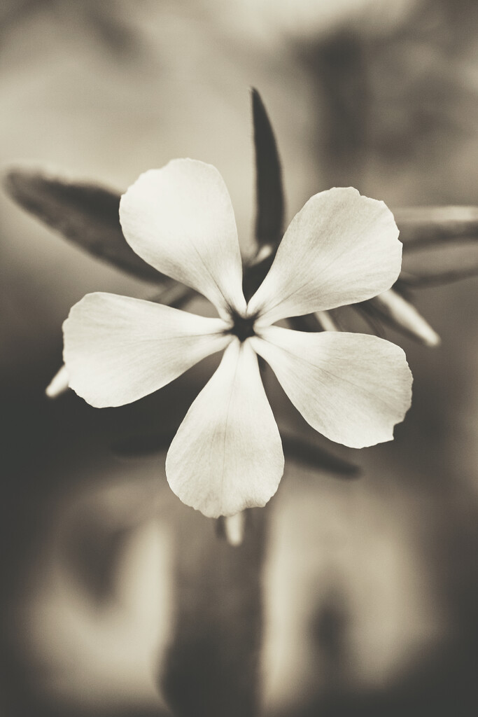
<instances>
[{"instance_id":1,"label":"upper-right pale petal with a notched, ragged outer rim","mask_svg":"<svg viewBox=\"0 0 478 717\"><path fill-rule=\"evenodd\" d=\"M401 242L383 201L353 187L312 196L295 215L249 315L267 326L376 296L396 281Z\"/></svg>"}]
</instances>

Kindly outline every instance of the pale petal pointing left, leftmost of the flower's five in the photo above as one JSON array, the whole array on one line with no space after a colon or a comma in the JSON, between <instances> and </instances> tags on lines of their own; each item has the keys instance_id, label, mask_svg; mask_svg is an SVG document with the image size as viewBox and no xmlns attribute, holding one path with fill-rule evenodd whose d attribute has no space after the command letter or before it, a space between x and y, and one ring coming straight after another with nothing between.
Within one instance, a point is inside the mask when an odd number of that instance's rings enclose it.
<instances>
[{"instance_id":1,"label":"pale petal pointing left, leftmost of the flower's five","mask_svg":"<svg viewBox=\"0 0 478 717\"><path fill-rule=\"evenodd\" d=\"M97 408L123 406L181 376L231 341L220 318L151 301L87 294L63 324L70 387Z\"/></svg>"}]
</instances>

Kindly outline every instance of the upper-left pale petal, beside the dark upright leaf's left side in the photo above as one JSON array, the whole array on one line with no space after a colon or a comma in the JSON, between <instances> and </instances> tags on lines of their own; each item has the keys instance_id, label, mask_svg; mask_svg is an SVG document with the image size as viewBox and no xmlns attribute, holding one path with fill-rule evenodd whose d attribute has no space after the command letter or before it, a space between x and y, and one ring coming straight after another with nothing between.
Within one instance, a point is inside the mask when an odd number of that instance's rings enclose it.
<instances>
[{"instance_id":1,"label":"upper-left pale petal, beside the dark upright leaf's left side","mask_svg":"<svg viewBox=\"0 0 478 717\"><path fill-rule=\"evenodd\" d=\"M193 159L150 169L123 194L120 222L148 264L242 313L242 262L231 199L219 171Z\"/></svg>"}]
</instances>

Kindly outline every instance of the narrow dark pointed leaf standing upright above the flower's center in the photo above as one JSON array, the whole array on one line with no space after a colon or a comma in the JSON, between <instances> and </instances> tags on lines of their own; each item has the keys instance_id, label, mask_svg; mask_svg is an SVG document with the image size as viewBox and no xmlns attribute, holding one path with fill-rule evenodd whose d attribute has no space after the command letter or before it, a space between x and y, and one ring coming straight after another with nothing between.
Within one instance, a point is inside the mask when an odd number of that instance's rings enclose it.
<instances>
[{"instance_id":1,"label":"narrow dark pointed leaf standing upright above the flower's center","mask_svg":"<svg viewBox=\"0 0 478 717\"><path fill-rule=\"evenodd\" d=\"M284 224L282 171L274 131L259 92L252 87L252 120L256 157L257 217L259 246L279 244Z\"/></svg>"}]
</instances>

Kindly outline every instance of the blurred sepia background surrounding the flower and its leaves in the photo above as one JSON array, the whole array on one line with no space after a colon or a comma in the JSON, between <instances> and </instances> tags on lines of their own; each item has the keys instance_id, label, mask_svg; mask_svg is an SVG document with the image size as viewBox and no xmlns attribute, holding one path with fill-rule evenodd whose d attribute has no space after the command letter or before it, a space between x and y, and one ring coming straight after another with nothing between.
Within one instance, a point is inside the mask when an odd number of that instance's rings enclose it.
<instances>
[{"instance_id":1,"label":"blurred sepia background surrounding the flower and its leaves","mask_svg":"<svg viewBox=\"0 0 478 717\"><path fill-rule=\"evenodd\" d=\"M0 56L4 168L122 191L171 158L213 163L244 251L251 86L287 220L334 185L391 209L478 204L474 0L4 0ZM362 466L353 480L289 460L267 524L252 511L231 549L169 490L164 446L117 450L177 425L216 359L130 407L48 401L71 305L151 289L6 194L0 212L0 713L477 713L476 280L416 294L439 348L388 335L414 373L396 440L329 446ZM279 422L307 433L268 381Z\"/></svg>"}]
</instances>

